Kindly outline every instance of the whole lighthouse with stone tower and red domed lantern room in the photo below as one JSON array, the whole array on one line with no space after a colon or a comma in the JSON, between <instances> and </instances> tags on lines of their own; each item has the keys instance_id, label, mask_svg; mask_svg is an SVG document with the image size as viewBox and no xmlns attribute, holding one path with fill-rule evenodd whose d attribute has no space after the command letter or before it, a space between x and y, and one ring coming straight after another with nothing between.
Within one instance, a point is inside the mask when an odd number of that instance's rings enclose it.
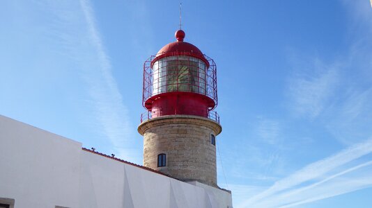
<instances>
[{"instance_id":1,"label":"whole lighthouse with stone tower and red domed lantern room","mask_svg":"<svg viewBox=\"0 0 372 208\"><path fill-rule=\"evenodd\" d=\"M216 144L222 131L217 107L217 67L185 32L144 63L138 132L144 166L182 181L217 187Z\"/></svg>"}]
</instances>

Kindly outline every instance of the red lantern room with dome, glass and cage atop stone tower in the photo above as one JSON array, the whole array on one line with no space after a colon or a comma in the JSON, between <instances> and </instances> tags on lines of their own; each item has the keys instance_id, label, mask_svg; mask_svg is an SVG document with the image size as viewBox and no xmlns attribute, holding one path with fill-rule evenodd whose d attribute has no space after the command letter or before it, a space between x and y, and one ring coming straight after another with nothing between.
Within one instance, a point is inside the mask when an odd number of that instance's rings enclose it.
<instances>
[{"instance_id":1,"label":"red lantern room with dome, glass and cage atop stone tower","mask_svg":"<svg viewBox=\"0 0 372 208\"><path fill-rule=\"evenodd\" d=\"M144 63L143 105L148 112L141 122L173 114L219 122L217 113L212 112L217 106L215 62L184 42L184 31L176 31L175 36L176 42L166 44Z\"/></svg>"}]
</instances>

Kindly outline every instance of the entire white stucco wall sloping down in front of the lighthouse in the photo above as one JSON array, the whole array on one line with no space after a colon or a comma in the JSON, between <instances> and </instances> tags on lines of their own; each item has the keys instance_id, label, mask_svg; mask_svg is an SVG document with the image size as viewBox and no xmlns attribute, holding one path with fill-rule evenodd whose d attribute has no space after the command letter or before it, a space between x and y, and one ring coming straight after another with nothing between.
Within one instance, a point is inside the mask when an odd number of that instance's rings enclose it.
<instances>
[{"instance_id":1,"label":"entire white stucco wall sloping down in front of the lighthouse","mask_svg":"<svg viewBox=\"0 0 372 208\"><path fill-rule=\"evenodd\" d=\"M0 115L0 198L15 207L231 207L231 194L82 150ZM205 186L205 187L203 187Z\"/></svg>"}]
</instances>

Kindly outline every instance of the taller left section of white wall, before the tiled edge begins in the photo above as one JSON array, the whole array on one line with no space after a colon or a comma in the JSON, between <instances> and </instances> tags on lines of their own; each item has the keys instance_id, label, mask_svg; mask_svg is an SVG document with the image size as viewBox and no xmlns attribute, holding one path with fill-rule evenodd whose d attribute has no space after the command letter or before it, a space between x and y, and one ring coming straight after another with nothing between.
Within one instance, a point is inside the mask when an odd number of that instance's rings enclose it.
<instances>
[{"instance_id":1,"label":"taller left section of white wall, before the tiled edge begins","mask_svg":"<svg viewBox=\"0 0 372 208\"><path fill-rule=\"evenodd\" d=\"M77 207L82 144L0 115L0 198Z\"/></svg>"}]
</instances>

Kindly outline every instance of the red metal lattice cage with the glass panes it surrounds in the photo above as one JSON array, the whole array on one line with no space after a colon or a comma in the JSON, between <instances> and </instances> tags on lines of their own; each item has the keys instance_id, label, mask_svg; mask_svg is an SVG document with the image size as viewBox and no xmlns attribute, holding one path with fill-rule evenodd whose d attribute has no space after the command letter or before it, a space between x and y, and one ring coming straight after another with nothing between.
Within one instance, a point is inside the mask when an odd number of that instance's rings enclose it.
<instances>
[{"instance_id":1,"label":"red metal lattice cage with the glass panes it surrounds","mask_svg":"<svg viewBox=\"0 0 372 208\"><path fill-rule=\"evenodd\" d=\"M160 55L164 58L159 58ZM208 96L216 107L217 66L207 55L204 57L206 59L201 60L183 53L165 53L148 58L144 63L142 104L145 106L148 98L157 94L193 92ZM162 64L163 59L166 60Z\"/></svg>"}]
</instances>

